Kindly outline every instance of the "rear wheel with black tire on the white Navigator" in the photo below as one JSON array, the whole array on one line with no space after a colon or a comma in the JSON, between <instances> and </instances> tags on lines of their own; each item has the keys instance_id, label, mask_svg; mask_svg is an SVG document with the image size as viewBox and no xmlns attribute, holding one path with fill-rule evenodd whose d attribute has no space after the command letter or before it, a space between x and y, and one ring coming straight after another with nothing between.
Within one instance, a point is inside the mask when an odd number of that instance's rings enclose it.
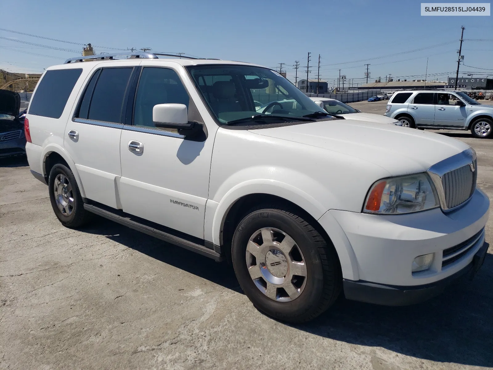
<instances>
[{"instance_id":1,"label":"rear wheel with black tire on the white Navigator","mask_svg":"<svg viewBox=\"0 0 493 370\"><path fill-rule=\"evenodd\" d=\"M60 202L57 202L57 197L55 196L55 181L58 182L63 178L67 179L68 183L65 188L70 188L66 198L68 204L66 207L63 207L62 205L62 208L65 209L66 214L64 214L64 212L59 208ZM57 187L60 186L62 188L64 187L63 185L59 185ZM48 192L53 211L55 212L58 220L60 220L64 226L77 228L83 226L92 218L92 214L84 209L84 202L80 196L79 186L75 181L72 171L67 166L57 163L52 167L48 177ZM65 197L65 195L63 195L63 197ZM70 203L68 201L69 199L71 199ZM63 201L65 202L65 199L63 199Z\"/></svg>"}]
</instances>

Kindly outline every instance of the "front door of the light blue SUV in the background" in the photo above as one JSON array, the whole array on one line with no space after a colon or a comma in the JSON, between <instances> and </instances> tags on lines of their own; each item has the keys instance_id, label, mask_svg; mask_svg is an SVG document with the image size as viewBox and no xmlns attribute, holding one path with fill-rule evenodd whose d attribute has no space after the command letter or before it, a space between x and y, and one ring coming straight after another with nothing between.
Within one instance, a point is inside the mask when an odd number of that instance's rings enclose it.
<instances>
[{"instance_id":1,"label":"front door of the light blue SUV in the background","mask_svg":"<svg viewBox=\"0 0 493 370\"><path fill-rule=\"evenodd\" d=\"M465 104L455 94L437 93L435 125L463 127L467 118Z\"/></svg>"}]
</instances>

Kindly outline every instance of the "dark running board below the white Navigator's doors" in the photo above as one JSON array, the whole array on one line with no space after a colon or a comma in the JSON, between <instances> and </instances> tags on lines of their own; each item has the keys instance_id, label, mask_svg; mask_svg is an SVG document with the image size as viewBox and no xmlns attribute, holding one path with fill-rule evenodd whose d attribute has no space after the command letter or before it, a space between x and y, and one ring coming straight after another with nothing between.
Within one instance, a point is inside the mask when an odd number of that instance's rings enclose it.
<instances>
[{"instance_id":1,"label":"dark running board below the white Navigator's doors","mask_svg":"<svg viewBox=\"0 0 493 370\"><path fill-rule=\"evenodd\" d=\"M116 215L112 212L106 211L102 208L93 206L91 204L84 204L84 208L89 212L92 212L96 215L104 217L105 219L108 219L108 220L111 220L114 222L118 222L118 223L125 225L125 226L128 226L134 230L141 231L144 234L154 236L155 238L158 238L158 239L161 239L165 242L177 245L178 247L182 247L182 248L188 249L189 251L196 252L202 256L209 257L211 259L214 259L216 262L220 262L223 260L223 256L221 256L219 253L217 253L217 252L215 252L215 251L213 251L207 247L204 247L203 245L191 242L189 240L180 238L178 236L169 234L167 232L158 230L156 228L144 225L143 223L133 221L129 218Z\"/></svg>"}]
</instances>

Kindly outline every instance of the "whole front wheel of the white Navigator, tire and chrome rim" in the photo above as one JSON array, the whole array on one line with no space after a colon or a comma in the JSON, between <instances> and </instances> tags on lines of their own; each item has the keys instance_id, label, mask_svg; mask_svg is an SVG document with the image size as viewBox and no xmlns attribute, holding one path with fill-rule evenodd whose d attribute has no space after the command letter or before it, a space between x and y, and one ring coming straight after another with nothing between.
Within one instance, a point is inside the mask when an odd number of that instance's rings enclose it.
<instances>
[{"instance_id":1,"label":"whole front wheel of the white Navigator, tire and chrome rim","mask_svg":"<svg viewBox=\"0 0 493 370\"><path fill-rule=\"evenodd\" d=\"M246 296L276 319L312 320L341 291L334 247L302 217L279 207L251 210L238 224L232 259Z\"/></svg>"}]
</instances>

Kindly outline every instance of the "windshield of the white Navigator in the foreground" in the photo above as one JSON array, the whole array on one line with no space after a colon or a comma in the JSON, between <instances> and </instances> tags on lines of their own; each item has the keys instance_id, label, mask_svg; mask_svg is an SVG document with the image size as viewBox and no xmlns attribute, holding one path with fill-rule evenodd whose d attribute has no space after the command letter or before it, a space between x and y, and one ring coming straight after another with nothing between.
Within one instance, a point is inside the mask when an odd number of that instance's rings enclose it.
<instances>
[{"instance_id":1,"label":"windshield of the white Navigator in the foreground","mask_svg":"<svg viewBox=\"0 0 493 370\"><path fill-rule=\"evenodd\" d=\"M281 116L296 120L321 111L281 74L266 68L204 65L188 67L188 70L215 118L222 124L248 121L248 117L259 114L264 118L272 114L271 118ZM255 119L247 124L255 123Z\"/></svg>"}]
</instances>

